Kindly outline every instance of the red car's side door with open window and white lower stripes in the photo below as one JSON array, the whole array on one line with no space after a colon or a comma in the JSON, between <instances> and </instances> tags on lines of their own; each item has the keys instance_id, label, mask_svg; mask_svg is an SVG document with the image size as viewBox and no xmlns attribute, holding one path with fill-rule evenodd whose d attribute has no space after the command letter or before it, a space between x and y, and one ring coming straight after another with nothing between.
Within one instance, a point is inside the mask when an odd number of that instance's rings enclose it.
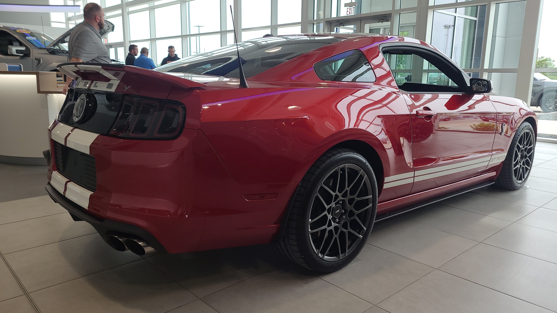
<instances>
[{"instance_id":1,"label":"red car's side door with open window and white lower stripes","mask_svg":"<svg viewBox=\"0 0 557 313\"><path fill-rule=\"evenodd\" d=\"M382 52L411 111L411 193L481 174L496 129L489 97L468 94L469 77L431 48L390 45Z\"/></svg>"}]
</instances>

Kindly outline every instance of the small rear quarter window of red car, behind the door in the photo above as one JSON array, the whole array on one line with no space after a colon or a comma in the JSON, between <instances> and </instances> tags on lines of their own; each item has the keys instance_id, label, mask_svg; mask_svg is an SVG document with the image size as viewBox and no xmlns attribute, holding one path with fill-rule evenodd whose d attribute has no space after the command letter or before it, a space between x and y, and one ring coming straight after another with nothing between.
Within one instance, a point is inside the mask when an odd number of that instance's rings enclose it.
<instances>
[{"instance_id":1,"label":"small rear quarter window of red car, behind the door","mask_svg":"<svg viewBox=\"0 0 557 313\"><path fill-rule=\"evenodd\" d=\"M321 80L374 82L375 74L368 59L360 50L340 53L314 65Z\"/></svg>"}]
</instances>

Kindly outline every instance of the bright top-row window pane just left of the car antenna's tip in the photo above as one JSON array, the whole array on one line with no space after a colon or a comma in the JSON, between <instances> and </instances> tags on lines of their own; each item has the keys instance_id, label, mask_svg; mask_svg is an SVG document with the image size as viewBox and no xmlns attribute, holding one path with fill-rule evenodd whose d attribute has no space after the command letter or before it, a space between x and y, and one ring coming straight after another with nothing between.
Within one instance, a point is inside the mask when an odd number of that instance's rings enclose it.
<instances>
[{"instance_id":1,"label":"bright top-row window pane just left of the car antenna's tip","mask_svg":"<svg viewBox=\"0 0 557 313\"><path fill-rule=\"evenodd\" d=\"M194 0L188 2L189 33L209 33L221 30L221 7L219 0ZM208 13L211 10L211 13ZM227 9L227 12L230 8ZM230 14L230 13L228 13Z\"/></svg>"}]
</instances>

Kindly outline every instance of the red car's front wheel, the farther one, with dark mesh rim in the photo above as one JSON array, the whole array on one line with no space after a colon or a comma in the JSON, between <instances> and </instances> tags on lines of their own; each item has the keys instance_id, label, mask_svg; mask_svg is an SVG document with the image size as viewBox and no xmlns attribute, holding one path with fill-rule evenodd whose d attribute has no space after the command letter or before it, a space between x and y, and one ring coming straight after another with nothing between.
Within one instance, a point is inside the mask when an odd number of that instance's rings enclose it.
<instances>
[{"instance_id":1,"label":"red car's front wheel, the farther one, with dark mesh rim","mask_svg":"<svg viewBox=\"0 0 557 313\"><path fill-rule=\"evenodd\" d=\"M528 122L522 123L512 138L509 151L495 184L497 187L516 190L524 186L534 163L536 146L534 128Z\"/></svg>"}]
</instances>

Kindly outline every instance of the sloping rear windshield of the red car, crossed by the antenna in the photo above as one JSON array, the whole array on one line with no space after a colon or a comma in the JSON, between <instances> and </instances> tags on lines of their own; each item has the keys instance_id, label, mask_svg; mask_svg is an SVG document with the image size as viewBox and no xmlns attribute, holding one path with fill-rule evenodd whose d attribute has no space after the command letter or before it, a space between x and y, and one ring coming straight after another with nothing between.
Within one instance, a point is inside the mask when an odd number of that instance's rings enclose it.
<instances>
[{"instance_id":1,"label":"sloping rear windshield of the red car, crossed by the antenna","mask_svg":"<svg viewBox=\"0 0 557 313\"><path fill-rule=\"evenodd\" d=\"M240 58L246 77L260 74L312 50L343 40L329 36L273 36L240 42ZM183 58L155 69L240 78L236 45Z\"/></svg>"}]
</instances>

